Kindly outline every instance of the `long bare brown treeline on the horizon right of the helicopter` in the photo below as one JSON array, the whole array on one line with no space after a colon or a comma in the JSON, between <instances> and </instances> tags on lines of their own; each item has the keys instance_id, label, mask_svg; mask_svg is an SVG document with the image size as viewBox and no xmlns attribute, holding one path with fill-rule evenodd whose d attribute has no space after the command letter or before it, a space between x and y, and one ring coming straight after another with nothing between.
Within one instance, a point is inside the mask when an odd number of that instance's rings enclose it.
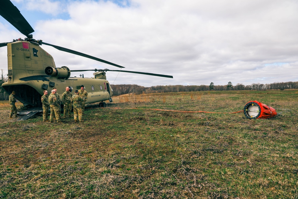
<instances>
[{"instance_id":1,"label":"long bare brown treeline on the horizon right of the helicopter","mask_svg":"<svg viewBox=\"0 0 298 199\"><path fill-rule=\"evenodd\" d=\"M152 86L143 87L136 84L119 84L112 85L114 95L124 95L128 93L149 94L160 92L191 92L191 91L208 91L208 90L285 90L285 89L298 89L298 81L292 82L274 82L271 84L251 84L243 85L236 84L235 86L215 85L212 89L207 85L200 86L183 86L183 85L168 85L168 86Z\"/></svg>"}]
</instances>

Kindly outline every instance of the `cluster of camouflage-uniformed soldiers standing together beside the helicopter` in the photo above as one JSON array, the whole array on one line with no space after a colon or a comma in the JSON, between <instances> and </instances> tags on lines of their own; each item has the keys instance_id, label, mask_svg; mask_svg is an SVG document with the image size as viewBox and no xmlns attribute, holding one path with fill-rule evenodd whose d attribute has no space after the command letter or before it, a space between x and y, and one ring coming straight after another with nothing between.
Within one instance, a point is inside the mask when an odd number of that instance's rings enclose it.
<instances>
[{"instance_id":1,"label":"cluster of camouflage-uniformed soldiers standing together beside the helicopter","mask_svg":"<svg viewBox=\"0 0 298 199\"><path fill-rule=\"evenodd\" d=\"M69 87L66 87L66 91L62 94L62 102L64 104L64 115L63 118L70 118L72 111L72 104L74 108L74 119L75 122L83 122L82 116L85 110L85 102L88 98L88 92L84 90L84 85L81 89L75 90L75 95L69 91ZM51 94L48 96L48 91L44 90L44 95L41 96L42 109L43 109L43 121L54 122L56 119L57 123L61 122L61 110L60 110L60 96L57 93L57 88L53 88ZM51 110L50 118L48 120L48 110Z\"/></svg>"}]
</instances>

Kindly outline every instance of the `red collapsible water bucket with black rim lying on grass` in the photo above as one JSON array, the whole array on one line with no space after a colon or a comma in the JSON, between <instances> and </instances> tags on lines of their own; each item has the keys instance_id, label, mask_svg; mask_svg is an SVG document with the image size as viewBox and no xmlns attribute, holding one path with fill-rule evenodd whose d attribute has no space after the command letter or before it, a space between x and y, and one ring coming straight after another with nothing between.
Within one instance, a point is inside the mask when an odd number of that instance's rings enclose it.
<instances>
[{"instance_id":1,"label":"red collapsible water bucket with black rim lying on grass","mask_svg":"<svg viewBox=\"0 0 298 199\"><path fill-rule=\"evenodd\" d=\"M258 101L249 101L244 106L244 115L249 119L271 118L277 115L274 108Z\"/></svg>"}]
</instances>

